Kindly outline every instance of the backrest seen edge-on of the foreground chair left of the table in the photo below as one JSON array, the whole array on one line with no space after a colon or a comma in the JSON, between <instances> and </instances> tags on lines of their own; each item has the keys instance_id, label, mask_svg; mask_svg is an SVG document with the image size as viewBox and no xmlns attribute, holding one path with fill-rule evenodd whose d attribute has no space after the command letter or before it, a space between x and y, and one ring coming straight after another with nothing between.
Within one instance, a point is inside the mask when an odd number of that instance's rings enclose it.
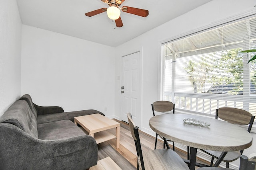
<instances>
[{"instance_id":1,"label":"backrest seen edge-on of the foreground chair left of the table","mask_svg":"<svg viewBox=\"0 0 256 170\"><path fill-rule=\"evenodd\" d=\"M134 121L132 120L132 114L131 113L127 113L127 118L128 118L130 130L131 130L131 134L132 134L132 137L133 137L134 142L135 142L137 156L138 156L138 158L140 157L140 162L139 162L139 159L138 159L138 166L140 166L140 168L142 170L145 170L143 156L142 156L142 150L141 150L141 145L140 145L140 136L139 136L138 127L135 125Z\"/></svg>"}]
</instances>

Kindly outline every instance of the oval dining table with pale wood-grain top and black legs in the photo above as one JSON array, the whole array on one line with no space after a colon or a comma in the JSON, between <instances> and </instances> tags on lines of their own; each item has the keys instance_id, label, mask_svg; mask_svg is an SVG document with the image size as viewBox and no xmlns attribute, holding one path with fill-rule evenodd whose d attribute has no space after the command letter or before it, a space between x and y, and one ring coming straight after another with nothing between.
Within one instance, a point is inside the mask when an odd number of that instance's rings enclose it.
<instances>
[{"instance_id":1,"label":"oval dining table with pale wood-grain top and black legs","mask_svg":"<svg viewBox=\"0 0 256 170\"><path fill-rule=\"evenodd\" d=\"M184 123L194 118L208 127ZM222 151L214 166L218 166L228 151L243 150L252 145L252 135L246 129L226 121L189 114L161 114L151 117L150 128L162 137L190 147L190 170L196 166L197 149Z\"/></svg>"}]
</instances>

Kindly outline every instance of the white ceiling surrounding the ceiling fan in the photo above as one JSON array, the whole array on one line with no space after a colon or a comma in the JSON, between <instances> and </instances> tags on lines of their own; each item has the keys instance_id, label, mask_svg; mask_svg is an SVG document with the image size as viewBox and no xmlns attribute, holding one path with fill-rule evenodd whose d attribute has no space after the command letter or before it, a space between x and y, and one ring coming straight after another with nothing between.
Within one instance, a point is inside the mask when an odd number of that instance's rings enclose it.
<instances>
[{"instance_id":1,"label":"white ceiling surrounding the ceiling fan","mask_svg":"<svg viewBox=\"0 0 256 170\"><path fill-rule=\"evenodd\" d=\"M108 8L101 0L17 0L22 23L116 47L158 25L172 20L211 0L125 0L122 6L149 11L144 18L121 12L123 27L116 27L103 12L87 17L86 12Z\"/></svg>"}]
</instances>

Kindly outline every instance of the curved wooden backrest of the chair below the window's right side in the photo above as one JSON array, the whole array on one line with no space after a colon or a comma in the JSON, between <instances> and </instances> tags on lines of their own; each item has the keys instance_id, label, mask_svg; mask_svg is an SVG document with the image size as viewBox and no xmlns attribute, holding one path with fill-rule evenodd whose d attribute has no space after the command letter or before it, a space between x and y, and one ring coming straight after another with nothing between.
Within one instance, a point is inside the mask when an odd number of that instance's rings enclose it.
<instances>
[{"instance_id":1,"label":"curved wooden backrest of the chair below the window's right side","mask_svg":"<svg viewBox=\"0 0 256 170\"><path fill-rule=\"evenodd\" d=\"M246 110L233 108L233 107L221 107L216 109L215 118L218 117L224 121L237 125L249 125L248 132L252 129L255 116Z\"/></svg>"}]
</instances>

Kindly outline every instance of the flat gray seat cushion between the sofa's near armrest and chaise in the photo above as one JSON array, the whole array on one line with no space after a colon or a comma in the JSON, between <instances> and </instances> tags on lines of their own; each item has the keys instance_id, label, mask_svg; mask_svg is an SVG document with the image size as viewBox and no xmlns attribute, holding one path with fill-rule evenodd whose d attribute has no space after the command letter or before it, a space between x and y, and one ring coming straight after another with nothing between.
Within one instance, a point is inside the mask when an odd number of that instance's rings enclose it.
<instances>
[{"instance_id":1,"label":"flat gray seat cushion between the sofa's near armrest and chaise","mask_svg":"<svg viewBox=\"0 0 256 170\"><path fill-rule=\"evenodd\" d=\"M70 120L54 121L37 125L38 139L56 140L86 135Z\"/></svg>"}]
</instances>

